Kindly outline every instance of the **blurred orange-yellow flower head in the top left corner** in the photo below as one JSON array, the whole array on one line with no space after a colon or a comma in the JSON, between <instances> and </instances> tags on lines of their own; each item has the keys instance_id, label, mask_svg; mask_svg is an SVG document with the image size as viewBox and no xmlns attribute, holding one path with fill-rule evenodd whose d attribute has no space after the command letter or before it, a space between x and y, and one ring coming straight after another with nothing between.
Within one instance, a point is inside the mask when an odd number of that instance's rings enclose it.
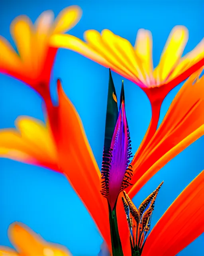
<instances>
[{"instance_id":1,"label":"blurred orange-yellow flower head in the top left corner","mask_svg":"<svg viewBox=\"0 0 204 256\"><path fill-rule=\"evenodd\" d=\"M69 6L55 20L51 10L43 12L35 24L25 15L15 18L10 31L18 52L0 36L0 72L22 80L43 97L49 96L49 79L57 53L49 40L54 34L73 28L80 17L80 8Z\"/></svg>"}]
</instances>

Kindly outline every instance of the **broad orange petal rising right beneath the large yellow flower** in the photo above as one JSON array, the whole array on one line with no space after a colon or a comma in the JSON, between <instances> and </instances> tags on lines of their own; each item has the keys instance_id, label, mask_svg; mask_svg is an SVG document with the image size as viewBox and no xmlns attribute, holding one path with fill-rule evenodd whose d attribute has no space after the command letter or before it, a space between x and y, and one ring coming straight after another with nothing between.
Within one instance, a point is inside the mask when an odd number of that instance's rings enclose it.
<instances>
[{"instance_id":1,"label":"broad orange petal rising right beneath the large yellow flower","mask_svg":"<svg viewBox=\"0 0 204 256\"><path fill-rule=\"evenodd\" d=\"M204 76L198 79L200 72L201 70L185 82L143 154L137 160L133 158L132 183L135 186L131 188L131 196L164 164L204 135ZM147 170L148 173L145 174Z\"/></svg>"}]
</instances>

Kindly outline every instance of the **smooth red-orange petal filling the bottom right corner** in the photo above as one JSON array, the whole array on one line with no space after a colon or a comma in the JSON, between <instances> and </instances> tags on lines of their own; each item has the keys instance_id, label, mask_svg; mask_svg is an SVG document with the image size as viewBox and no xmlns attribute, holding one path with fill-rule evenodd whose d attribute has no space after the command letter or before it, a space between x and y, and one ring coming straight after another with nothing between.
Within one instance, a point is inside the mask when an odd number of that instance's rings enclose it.
<instances>
[{"instance_id":1,"label":"smooth red-orange petal filling the bottom right corner","mask_svg":"<svg viewBox=\"0 0 204 256\"><path fill-rule=\"evenodd\" d=\"M204 232L204 171L176 198L157 222L142 256L175 256Z\"/></svg>"}]
</instances>

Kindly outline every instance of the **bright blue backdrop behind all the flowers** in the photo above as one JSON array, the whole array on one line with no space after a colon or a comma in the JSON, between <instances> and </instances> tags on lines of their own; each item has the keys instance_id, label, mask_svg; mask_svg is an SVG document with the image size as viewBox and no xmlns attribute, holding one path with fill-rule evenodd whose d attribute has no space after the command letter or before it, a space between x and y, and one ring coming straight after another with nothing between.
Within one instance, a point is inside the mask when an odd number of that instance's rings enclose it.
<instances>
[{"instance_id":1,"label":"bright blue backdrop behind all the flowers","mask_svg":"<svg viewBox=\"0 0 204 256\"><path fill-rule=\"evenodd\" d=\"M157 65L169 32L175 25L189 30L184 53L192 50L204 36L203 1L0 1L0 34L12 42L10 22L20 14L32 21L44 10L52 9L57 15L64 7L78 4L83 16L71 34L82 38L86 29L101 31L109 28L128 38L134 44L139 28L153 33L153 60ZM12 42L13 43L13 42ZM61 77L64 90L77 108L88 140L101 166L108 91L108 69L68 50L59 50L53 78ZM116 90L120 92L122 77L113 73ZM52 88L55 84L51 82ZM147 97L135 84L124 80L127 116L133 152L138 148L148 127L151 110ZM165 99L164 116L177 86ZM41 98L22 82L0 74L0 128L14 127L19 115L43 120ZM179 193L204 169L201 138L175 157L157 173L134 198L138 205L164 180L159 192L152 226ZM72 207L70 207L70 203ZM75 220L80 216L80 226ZM98 234L82 202L66 178L43 168L0 159L0 244L10 246L6 232L8 225L21 221L39 232L45 239L66 245L74 256L95 256L102 238ZM83 223L83 225L81 225ZM202 255L204 236L200 236L179 256Z\"/></svg>"}]
</instances>

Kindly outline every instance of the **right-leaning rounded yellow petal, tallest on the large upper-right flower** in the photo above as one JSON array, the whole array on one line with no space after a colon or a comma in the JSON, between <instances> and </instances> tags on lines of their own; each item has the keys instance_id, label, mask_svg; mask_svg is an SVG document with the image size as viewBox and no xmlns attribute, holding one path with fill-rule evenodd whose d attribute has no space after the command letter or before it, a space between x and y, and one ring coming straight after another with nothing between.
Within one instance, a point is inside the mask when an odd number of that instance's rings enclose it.
<instances>
[{"instance_id":1,"label":"right-leaning rounded yellow petal, tallest on the large upper-right flower","mask_svg":"<svg viewBox=\"0 0 204 256\"><path fill-rule=\"evenodd\" d=\"M175 26L169 35L163 53L161 54L159 65L156 68L158 69L157 72L159 73L161 82L165 82L167 80L170 73L178 64L187 41L187 28L184 26Z\"/></svg>"}]
</instances>

